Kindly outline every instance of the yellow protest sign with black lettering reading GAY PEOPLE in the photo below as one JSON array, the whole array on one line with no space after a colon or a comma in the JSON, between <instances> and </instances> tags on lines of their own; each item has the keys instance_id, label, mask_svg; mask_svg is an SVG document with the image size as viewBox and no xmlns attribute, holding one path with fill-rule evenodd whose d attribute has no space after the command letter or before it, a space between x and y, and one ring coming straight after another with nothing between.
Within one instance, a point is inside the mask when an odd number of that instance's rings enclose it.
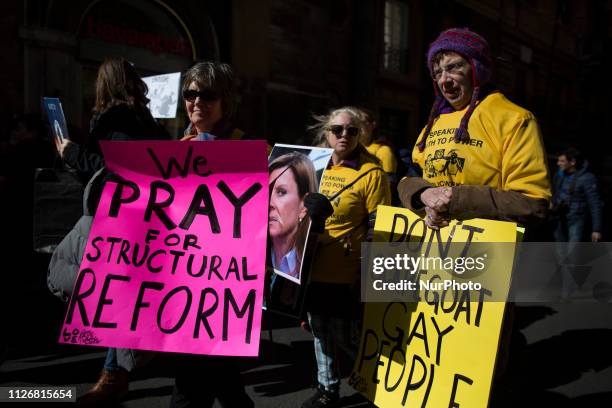
<instances>
[{"instance_id":1,"label":"yellow protest sign with black lettering reading GAY PEOPLE","mask_svg":"<svg viewBox=\"0 0 612 408\"><path fill-rule=\"evenodd\" d=\"M487 407L505 309L493 300L506 299L514 259L513 244L497 243L515 243L516 224L473 219L433 231L409 210L380 206L374 237L420 243L428 255L450 242L506 248L489 258L484 273L494 285L485 283L478 292L429 287L419 292L419 302L367 303L350 378L378 407ZM419 273L422 278L430 272ZM445 273L436 270L435 276L452 277Z\"/></svg>"}]
</instances>

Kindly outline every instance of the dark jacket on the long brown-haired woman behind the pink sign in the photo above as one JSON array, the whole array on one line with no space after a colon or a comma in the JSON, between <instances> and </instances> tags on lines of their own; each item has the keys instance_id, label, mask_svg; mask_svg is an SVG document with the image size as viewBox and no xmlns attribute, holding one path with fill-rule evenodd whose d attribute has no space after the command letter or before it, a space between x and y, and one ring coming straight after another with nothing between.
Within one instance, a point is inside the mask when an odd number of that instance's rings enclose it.
<instances>
[{"instance_id":1,"label":"dark jacket on the long brown-haired woman behind the pink sign","mask_svg":"<svg viewBox=\"0 0 612 408\"><path fill-rule=\"evenodd\" d=\"M89 177L104 167L100 148L101 140L167 140L170 136L147 110L137 112L125 104L115 105L94 115L86 146L69 144L64 151L64 161L73 169Z\"/></svg>"}]
</instances>

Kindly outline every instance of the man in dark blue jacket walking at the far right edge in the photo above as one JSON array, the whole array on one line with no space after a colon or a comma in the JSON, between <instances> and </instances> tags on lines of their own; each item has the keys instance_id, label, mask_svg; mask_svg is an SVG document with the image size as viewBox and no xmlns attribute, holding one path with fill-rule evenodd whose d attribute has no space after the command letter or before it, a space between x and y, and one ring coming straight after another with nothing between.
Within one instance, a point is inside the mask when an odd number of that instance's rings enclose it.
<instances>
[{"instance_id":1,"label":"man in dark blue jacket walking at the far right edge","mask_svg":"<svg viewBox=\"0 0 612 408\"><path fill-rule=\"evenodd\" d=\"M557 242L601 240L603 203L597 179L589 171L589 163L576 149L567 149L557 160L558 172L553 181L554 237ZM590 217L589 217L590 216ZM590 231L588 238L585 232Z\"/></svg>"}]
</instances>

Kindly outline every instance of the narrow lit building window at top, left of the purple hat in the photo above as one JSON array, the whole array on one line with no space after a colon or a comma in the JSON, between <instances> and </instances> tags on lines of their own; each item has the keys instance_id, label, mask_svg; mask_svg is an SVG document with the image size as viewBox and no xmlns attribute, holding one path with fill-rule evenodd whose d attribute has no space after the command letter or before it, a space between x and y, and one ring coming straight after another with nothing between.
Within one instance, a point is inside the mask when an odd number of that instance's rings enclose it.
<instances>
[{"instance_id":1,"label":"narrow lit building window at top, left of the purple hat","mask_svg":"<svg viewBox=\"0 0 612 408\"><path fill-rule=\"evenodd\" d=\"M384 68L405 73L408 67L408 5L403 1L385 1L384 47Z\"/></svg>"}]
</instances>

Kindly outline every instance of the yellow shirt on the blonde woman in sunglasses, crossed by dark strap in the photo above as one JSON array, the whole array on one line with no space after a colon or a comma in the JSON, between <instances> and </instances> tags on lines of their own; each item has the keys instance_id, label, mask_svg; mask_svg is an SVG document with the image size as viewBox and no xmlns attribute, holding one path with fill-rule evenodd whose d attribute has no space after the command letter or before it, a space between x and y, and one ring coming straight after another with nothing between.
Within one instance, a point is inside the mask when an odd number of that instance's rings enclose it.
<instances>
[{"instance_id":1,"label":"yellow shirt on the blonde woman in sunglasses, crossed by dark strap","mask_svg":"<svg viewBox=\"0 0 612 408\"><path fill-rule=\"evenodd\" d=\"M368 171L332 200L334 213L325 223L325 234L319 237L312 264L312 281L346 284L357 281L361 242L368 230L368 214L376 211L378 205L391 202L389 181L377 163L361 156L354 168L348 163L328 168L323 173L320 188L322 194L332 197Z\"/></svg>"}]
</instances>

